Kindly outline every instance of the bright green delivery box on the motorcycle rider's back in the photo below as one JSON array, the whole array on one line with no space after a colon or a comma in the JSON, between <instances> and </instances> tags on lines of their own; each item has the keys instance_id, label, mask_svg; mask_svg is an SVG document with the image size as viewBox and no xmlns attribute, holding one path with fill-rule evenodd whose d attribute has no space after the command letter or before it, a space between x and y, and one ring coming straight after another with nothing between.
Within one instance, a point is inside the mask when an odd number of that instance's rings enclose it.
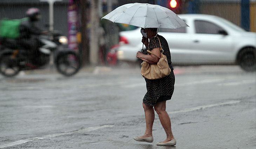
<instances>
[{"instance_id":1,"label":"bright green delivery box on the motorcycle rider's back","mask_svg":"<svg viewBox=\"0 0 256 149\"><path fill-rule=\"evenodd\" d=\"M20 23L28 18L22 19L3 19L0 20L0 37L16 39L20 36L19 26Z\"/></svg>"}]
</instances>

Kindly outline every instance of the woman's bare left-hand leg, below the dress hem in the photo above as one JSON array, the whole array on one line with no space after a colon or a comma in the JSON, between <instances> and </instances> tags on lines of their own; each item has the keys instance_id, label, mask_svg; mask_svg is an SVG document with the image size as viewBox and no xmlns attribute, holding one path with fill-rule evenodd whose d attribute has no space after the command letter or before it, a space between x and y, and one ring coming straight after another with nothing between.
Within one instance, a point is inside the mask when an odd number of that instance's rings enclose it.
<instances>
[{"instance_id":1,"label":"woman's bare left-hand leg, below the dress hem","mask_svg":"<svg viewBox=\"0 0 256 149\"><path fill-rule=\"evenodd\" d=\"M146 138L152 136L152 127L155 120L155 111L153 107L147 106L146 104L143 104L144 112L145 112L145 119L146 119L146 130L145 134L143 136L140 136L141 138Z\"/></svg>"}]
</instances>

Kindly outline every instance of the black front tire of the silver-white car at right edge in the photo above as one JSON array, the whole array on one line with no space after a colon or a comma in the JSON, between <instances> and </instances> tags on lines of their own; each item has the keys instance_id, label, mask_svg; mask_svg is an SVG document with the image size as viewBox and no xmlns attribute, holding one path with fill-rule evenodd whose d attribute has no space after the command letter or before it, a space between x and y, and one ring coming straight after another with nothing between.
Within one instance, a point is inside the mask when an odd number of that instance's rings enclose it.
<instances>
[{"instance_id":1,"label":"black front tire of the silver-white car at right edge","mask_svg":"<svg viewBox=\"0 0 256 149\"><path fill-rule=\"evenodd\" d=\"M245 48L239 54L237 58L238 65L247 71L254 72L256 71L256 49L254 48Z\"/></svg>"}]
</instances>

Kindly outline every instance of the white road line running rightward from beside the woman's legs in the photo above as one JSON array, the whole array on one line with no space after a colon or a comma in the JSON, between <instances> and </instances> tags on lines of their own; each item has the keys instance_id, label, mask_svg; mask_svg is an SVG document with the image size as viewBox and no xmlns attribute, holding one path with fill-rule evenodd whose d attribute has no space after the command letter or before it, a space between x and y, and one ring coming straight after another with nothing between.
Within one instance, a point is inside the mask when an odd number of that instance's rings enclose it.
<instances>
[{"instance_id":1,"label":"white road line running rightward from beside the woman's legs","mask_svg":"<svg viewBox=\"0 0 256 149\"><path fill-rule=\"evenodd\" d=\"M239 102L241 102L241 101L233 100L233 101L228 101L228 102L220 102L220 103L215 103L215 104L208 104L208 105L204 105L204 106L198 106L198 107L193 107L193 108L176 110L176 111L168 112L168 114L190 112L190 111L196 111L196 110L203 110L203 109L206 109L206 108L225 106L225 105L230 105L230 104L236 104L236 103L239 103Z\"/></svg>"}]
</instances>

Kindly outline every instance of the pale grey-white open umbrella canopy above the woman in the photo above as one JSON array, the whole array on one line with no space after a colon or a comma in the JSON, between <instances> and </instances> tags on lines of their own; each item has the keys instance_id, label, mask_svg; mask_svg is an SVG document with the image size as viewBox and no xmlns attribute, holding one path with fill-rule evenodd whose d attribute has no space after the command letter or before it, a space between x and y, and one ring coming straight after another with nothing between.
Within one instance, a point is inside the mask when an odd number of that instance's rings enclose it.
<instances>
[{"instance_id":1,"label":"pale grey-white open umbrella canopy above the woman","mask_svg":"<svg viewBox=\"0 0 256 149\"><path fill-rule=\"evenodd\" d=\"M188 26L170 9L146 3L122 5L102 19L142 28L180 28Z\"/></svg>"}]
</instances>

